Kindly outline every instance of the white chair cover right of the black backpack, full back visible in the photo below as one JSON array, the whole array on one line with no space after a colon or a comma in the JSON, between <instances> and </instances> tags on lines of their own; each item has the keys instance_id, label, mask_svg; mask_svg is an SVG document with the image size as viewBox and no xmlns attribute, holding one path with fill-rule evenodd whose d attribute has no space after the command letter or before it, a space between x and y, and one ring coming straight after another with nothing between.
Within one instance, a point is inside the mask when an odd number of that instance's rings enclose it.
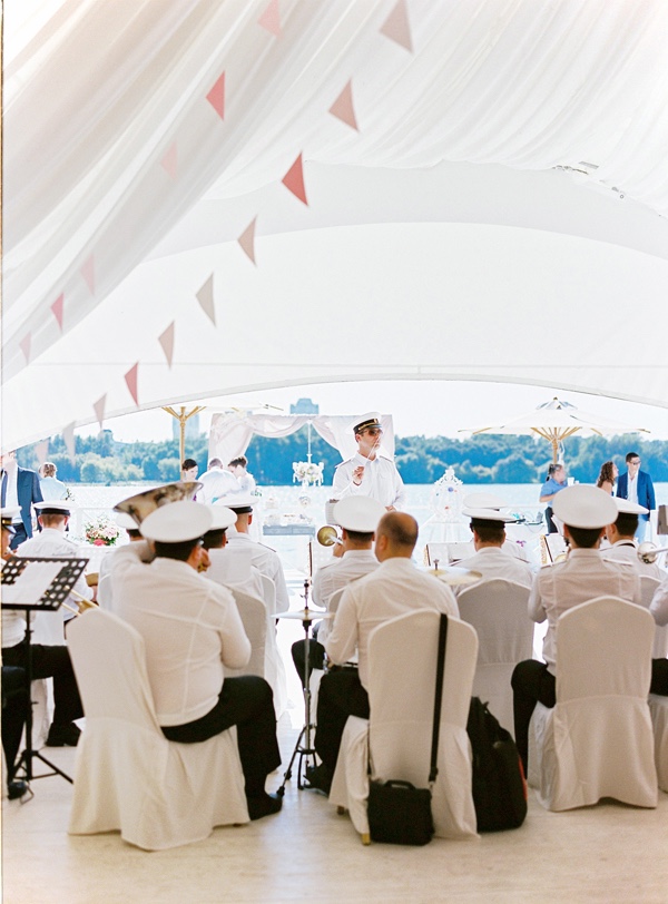
<instances>
[{"instance_id":1,"label":"white chair cover right of the black backpack, full back visible","mask_svg":"<svg viewBox=\"0 0 668 904\"><path fill-rule=\"evenodd\" d=\"M646 609L598 597L557 623L557 705L531 719L529 784L553 810L613 797L656 807L657 773L647 695L654 620Z\"/></svg>"}]
</instances>

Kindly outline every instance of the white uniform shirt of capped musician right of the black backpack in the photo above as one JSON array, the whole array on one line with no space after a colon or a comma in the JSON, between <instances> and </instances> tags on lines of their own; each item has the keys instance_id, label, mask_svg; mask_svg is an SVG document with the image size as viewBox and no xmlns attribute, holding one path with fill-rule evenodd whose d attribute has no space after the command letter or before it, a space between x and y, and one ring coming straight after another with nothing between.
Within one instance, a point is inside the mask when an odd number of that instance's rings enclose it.
<instances>
[{"instance_id":1,"label":"white uniform shirt of capped musician right of the black backpack","mask_svg":"<svg viewBox=\"0 0 668 904\"><path fill-rule=\"evenodd\" d=\"M621 597L641 605L640 576L627 562L610 561L598 549L571 549L564 562L541 568L529 597L529 618L548 619L543 659L556 675L557 622L573 606L596 597Z\"/></svg>"}]
</instances>

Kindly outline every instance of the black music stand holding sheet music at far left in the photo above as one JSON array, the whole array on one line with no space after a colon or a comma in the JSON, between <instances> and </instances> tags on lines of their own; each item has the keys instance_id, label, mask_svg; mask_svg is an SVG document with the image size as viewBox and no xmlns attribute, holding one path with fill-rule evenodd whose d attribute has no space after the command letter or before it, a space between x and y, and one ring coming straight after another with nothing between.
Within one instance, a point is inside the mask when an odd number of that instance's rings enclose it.
<instances>
[{"instance_id":1,"label":"black music stand holding sheet music at far left","mask_svg":"<svg viewBox=\"0 0 668 904\"><path fill-rule=\"evenodd\" d=\"M51 564L60 562L61 566L57 573L49 578L48 586L38 591L33 590L26 579L33 574L29 566L37 562L49 562ZM14 769L16 776L21 766L24 770L26 782L30 783L33 778L48 778L51 775L61 775L67 782L73 784L67 773L59 769L53 763L40 754L39 750L32 749L32 628L30 627L31 612L55 612L60 608L61 603L68 598L70 590L77 582L77 579L84 573L88 559L48 559L39 556L22 557L13 556L9 561L2 566L2 574L0 576L0 583L6 588L2 593L2 609L21 610L26 612L26 635L23 643L26 645L26 684L28 689L28 710L26 713L26 748L19 757L19 763ZM21 583L26 582L26 590L21 591ZM43 581L42 581L43 584ZM14 587L16 586L16 587ZM14 587L11 591L9 588ZM30 599L37 592L37 599ZM41 593L41 595L40 595ZM23 599L24 596L24 599ZM17 599L21 597L21 599ZM9 598L9 599L8 599ZM49 766L52 772L41 773L33 775L32 760L40 759L43 764ZM8 764L10 767L10 764Z\"/></svg>"}]
</instances>

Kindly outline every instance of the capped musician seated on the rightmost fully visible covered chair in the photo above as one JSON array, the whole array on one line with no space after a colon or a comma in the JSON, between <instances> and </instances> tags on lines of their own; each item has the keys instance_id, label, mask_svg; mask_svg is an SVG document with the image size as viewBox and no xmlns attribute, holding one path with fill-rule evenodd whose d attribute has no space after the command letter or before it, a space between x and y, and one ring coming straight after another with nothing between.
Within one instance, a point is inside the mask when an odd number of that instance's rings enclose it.
<instances>
[{"instance_id":1,"label":"capped musician seated on the rightmost fully visible covered chair","mask_svg":"<svg viewBox=\"0 0 668 904\"><path fill-rule=\"evenodd\" d=\"M568 487L554 500L570 543L564 562L541 569L529 597L529 617L548 620L544 662L527 659L512 674L514 729L524 772L529 756L529 723L537 702L556 704L557 622L573 606L596 597L620 597L641 605L640 577L628 562L606 560L599 551L607 524L617 518L615 500L598 487Z\"/></svg>"}]
</instances>

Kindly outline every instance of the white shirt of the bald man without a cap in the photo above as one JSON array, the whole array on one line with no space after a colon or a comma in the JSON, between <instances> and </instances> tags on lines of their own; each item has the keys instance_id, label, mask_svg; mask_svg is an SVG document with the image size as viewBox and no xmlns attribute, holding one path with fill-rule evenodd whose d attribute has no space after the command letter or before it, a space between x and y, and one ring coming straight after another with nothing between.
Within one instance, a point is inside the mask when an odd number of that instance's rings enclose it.
<instances>
[{"instance_id":1,"label":"white shirt of the bald man without a cap","mask_svg":"<svg viewBox=\"0 0 668 904\"><path fill-rule=\"evenodd\" d=\"M341 665L357 650L360 681L366 687L371 631L395 616L418 609L459 618L456 600L446 584L419 571L410 559L386 559L375 571L353 581L344 591L325 645L327 656Z\"/></svg>"}]
</instances>

